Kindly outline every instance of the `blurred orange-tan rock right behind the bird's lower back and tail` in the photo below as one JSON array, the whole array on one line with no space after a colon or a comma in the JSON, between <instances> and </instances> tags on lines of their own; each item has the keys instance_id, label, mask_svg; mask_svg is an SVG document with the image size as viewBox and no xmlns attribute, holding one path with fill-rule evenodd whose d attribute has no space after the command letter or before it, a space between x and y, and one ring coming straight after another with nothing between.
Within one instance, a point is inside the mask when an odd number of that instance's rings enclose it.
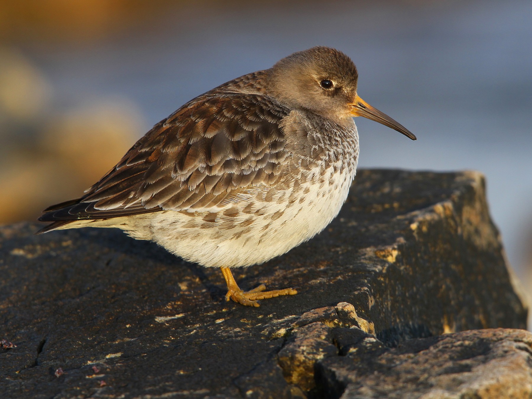
<instances>
[{"instance_id":1,"label":"blurred orange-tan rock right behind the bird's lower back and tail","mask_svg":"<svg viewBox=\"0 0 532 399\"><path fill-rule=\"evenodd\" d=\"M28 150L0 160L0 223L32 220L45 207L79 197L142 134L139 111L97 101L57 117Z\"/></svg>"}]
</instances>

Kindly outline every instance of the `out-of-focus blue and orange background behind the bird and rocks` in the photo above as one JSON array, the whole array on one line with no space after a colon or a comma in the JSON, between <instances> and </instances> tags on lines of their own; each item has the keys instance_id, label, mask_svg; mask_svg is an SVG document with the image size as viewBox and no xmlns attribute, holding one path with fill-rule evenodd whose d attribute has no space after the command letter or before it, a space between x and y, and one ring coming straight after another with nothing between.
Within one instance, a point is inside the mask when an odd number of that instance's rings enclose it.
<instances>
[{"instance_id":1,"label":"out-of-focus blue and orange background behind the bird and rocks","mask_svg":"<svg viewBox=\"0 0 532 399\"><path fill-rule=\"evenodd\" d=\"M188 99L336 47L359 94L418 136L356 119L361 167L473 169L532 292L532 2L0 2L0 222L80 195Z\"/></svg>"}]
</instances>

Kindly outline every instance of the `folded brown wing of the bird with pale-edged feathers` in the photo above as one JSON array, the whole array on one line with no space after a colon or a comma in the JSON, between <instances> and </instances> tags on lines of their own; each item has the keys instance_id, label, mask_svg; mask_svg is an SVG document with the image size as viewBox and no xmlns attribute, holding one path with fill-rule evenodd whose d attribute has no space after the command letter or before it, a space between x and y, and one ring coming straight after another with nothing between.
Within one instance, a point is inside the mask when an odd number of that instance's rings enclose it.
<instances>
[{"instance_id":1,"label":"folded brown wing of the bird with pale-edged feathers","mask_svg":"<svg viewBox=\"0 0 532 399\"><path fill-rule=\"evenodd\" d=\"M39 220L209 210L275 185L290 156L279 126L288 113L260 95L199 97L156 124L77 202Z\"/></svg>"}]
</instances>

